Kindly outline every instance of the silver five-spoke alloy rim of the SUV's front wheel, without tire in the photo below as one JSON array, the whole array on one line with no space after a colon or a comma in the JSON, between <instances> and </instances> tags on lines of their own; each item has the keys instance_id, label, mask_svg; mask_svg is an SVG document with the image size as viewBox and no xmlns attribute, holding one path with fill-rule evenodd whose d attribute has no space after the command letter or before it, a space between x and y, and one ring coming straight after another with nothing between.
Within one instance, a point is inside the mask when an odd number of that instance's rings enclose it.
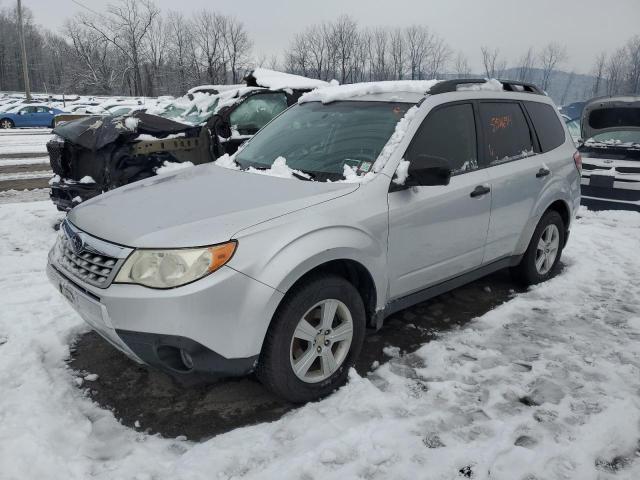
<instances>
[{"instance_id":1,"label":"silver five-spoke alloy rim of the SUV's front wheel, without tire","mask_svg":"<svg viewBox=\"0 0 640 480\"><path fill-rule=\"evenodd\" d=\"M327 299L300 319L291 339L291 368L305 383L331 377L344 363L353 339L353 319L339 300Z\"/></svg>"}]
</instances>

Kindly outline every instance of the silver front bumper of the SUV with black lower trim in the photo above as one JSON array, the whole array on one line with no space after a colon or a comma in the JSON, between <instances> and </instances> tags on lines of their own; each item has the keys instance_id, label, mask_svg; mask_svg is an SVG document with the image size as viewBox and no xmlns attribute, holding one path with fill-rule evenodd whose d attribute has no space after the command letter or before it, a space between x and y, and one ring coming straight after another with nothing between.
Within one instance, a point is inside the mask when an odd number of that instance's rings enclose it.
<instances>
[{"instance_id":1,"label":"silver front bumper of the SUV with black lower trim","mask_svg":"<svg viewBox=\"0 0 640 480\"><path fill-rule=\"evenodd\" d=\"M253 370L282 298L229 267L171 290L119 284L101 289L49 260L51 283L98 334L134 361L178 377Z\"/></svg>"}]
</instances>

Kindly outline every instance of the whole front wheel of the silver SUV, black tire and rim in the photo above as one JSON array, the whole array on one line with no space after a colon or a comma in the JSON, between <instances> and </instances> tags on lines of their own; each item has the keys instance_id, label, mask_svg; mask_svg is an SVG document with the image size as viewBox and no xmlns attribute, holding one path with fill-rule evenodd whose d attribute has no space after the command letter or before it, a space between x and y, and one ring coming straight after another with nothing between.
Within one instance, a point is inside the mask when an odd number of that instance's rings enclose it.
<instances>
[{"instance_id":1,"label":"whole front wheel of the silver SUV, black tire and rim","mask_svg":"<svg viewBox=\"0 0 640 480\"><path fill-rule=\"evenodd\" d=\"M330 394L360 354L365 321L360 294L342 277L319 275L294 287L267 332L258 378L295 403Z\"/></svg>"}]
</instances>

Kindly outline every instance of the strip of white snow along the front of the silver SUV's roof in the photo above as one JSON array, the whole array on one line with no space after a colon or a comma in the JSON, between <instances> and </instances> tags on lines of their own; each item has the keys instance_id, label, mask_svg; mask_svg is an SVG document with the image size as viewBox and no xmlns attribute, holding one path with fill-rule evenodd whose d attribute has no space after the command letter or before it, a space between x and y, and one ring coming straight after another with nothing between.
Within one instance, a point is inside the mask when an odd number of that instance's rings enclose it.
<instances>
[{"instance_id":1,"label":"strip of white snow along the front of the silver SUV's roof","mask_svg":"<svg viewBox=\"0 0 640 480\"><path fill-rule=\"evenodd\" d=\"M431 87L438 82L440 80L391 80L354 83L351 85L331 85L305 93L298 99L298 103L331 103L378 93L424 93L426 95Z\"/></svg>"}]
</instances>

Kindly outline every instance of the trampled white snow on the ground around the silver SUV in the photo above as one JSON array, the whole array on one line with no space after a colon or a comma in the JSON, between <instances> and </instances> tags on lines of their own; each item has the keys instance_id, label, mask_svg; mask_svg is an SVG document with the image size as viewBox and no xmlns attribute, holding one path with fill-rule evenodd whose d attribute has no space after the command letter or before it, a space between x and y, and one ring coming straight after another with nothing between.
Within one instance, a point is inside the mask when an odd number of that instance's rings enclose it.
<instances>
[{"instance_id":1,"label":"trampled white snow on the ground around the silver SUV","mask_svg":"<svg viewBox=\"0 0 640 480\"><path fill-rule=\"evenodd\" d=\"M555 279L200 444L126 428L78 388L65 360L86 327L44 273L58 218L49 202L0 205L3 480L640 478L636 213L583 211Z\"/></svg>"}]
</instances>

